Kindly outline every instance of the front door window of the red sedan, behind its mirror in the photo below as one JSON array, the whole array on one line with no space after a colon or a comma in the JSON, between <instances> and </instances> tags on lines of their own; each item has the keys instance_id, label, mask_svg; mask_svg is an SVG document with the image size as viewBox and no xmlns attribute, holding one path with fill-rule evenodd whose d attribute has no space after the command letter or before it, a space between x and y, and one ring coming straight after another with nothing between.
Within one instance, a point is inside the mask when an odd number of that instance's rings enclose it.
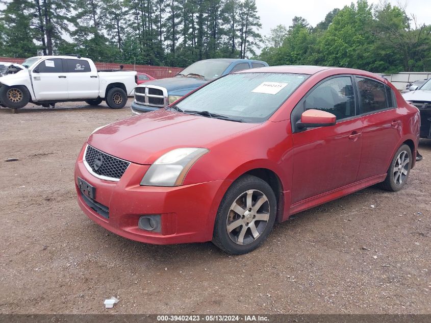
<instances>
[{"instance_id":1,"label":"front door window of the red sedan, behind its mirror","mask_svg":"<svg viewBox=\"0 0 431 323\"><path fill-rule=\"evenodd\" d=\"M327 111L334 114L337 120L356 115L351 78L339 77L318 85L307 96L304 108Z\"/></svg>"}]
</instances>

